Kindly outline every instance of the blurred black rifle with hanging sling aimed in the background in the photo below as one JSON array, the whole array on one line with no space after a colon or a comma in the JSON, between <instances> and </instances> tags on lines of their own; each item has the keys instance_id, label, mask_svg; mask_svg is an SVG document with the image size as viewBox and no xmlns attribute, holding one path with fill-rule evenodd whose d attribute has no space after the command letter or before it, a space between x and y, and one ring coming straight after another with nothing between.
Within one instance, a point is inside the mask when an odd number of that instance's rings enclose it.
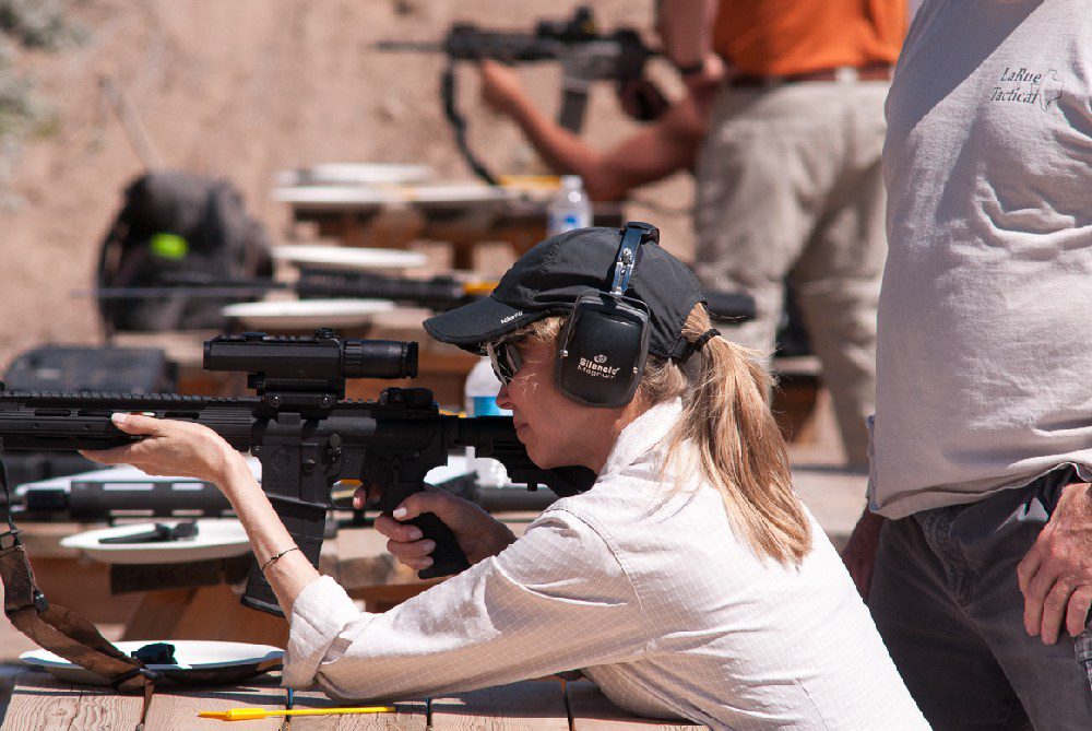
<instances>
[{"instance_id":1,"label":"blurred black rifle with hanging sling aimed in the background","mask_svg":"<svg viewBox=\"0 0 1092 731\"><path fill-rule=\"evenodd\" d=\"M539 21L533 33L518 31L485 31L471 23L451 26L442 44L384 40L380 50L436 52L448 56L441 81L443 113L455 134L455 143L475 175L497 185L497 177L471 152L466 144L466 119L455 105L455 63L491 59L505 63L535 61L561 62L561 127L579 132L584 121L587 93L593 81L615 81L622 90L639 81L644 63L655 52L646 47L633 28L616 28L600 33L592 9L580 7L566 21ZM645 86L645 96L638 105L637 116L655 116L665 103L654 87Z\"/></svg>"}]
</instances>

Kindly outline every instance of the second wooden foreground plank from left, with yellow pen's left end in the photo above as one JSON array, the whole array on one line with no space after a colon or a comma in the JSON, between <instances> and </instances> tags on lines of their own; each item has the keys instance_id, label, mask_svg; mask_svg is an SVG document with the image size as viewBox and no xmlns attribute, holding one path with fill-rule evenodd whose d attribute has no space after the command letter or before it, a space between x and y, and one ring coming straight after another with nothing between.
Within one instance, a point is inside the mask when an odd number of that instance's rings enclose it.
<instances>
[{"instance_id":1,"label":"second wooden foreground plank from left, with yellow pen's left end","mask_svg":"<svg viewBox=\"0 0 1092 731\"><path fill-rule=\"evenodd\" d=\"M145 731L189 731L190 729L224 729L224 721L198 718L201 710L227 710L228 708L256 707L266 710L283 710L285 691L281 687L280 673L270 673L249 681L245 685L217 687L185 687L161 685L152 698L147 711ZM281 717L247 721L248 730L281 728Z\"/></svg>"}]
</instances>

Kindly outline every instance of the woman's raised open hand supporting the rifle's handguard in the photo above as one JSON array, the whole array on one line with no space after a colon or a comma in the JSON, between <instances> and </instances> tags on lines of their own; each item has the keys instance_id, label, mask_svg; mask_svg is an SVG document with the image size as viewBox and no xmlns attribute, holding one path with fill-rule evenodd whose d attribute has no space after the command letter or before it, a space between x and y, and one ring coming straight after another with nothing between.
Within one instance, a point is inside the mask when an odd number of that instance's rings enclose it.
<instances>
[{"instance_id":1,"label":"woman's raised open hand supporting the rifle's handguard","mask_svg":"<svg viewBox=\"0 0 1092 731\"><path fill-rule=\"evenodd\" d=\"M132 464L149 474L225 483L228 467L242 456L206 426L136 414L114 414L126 434L145 437L123 447L80 453L103 464Z\"/></svg>"}]
</instances>

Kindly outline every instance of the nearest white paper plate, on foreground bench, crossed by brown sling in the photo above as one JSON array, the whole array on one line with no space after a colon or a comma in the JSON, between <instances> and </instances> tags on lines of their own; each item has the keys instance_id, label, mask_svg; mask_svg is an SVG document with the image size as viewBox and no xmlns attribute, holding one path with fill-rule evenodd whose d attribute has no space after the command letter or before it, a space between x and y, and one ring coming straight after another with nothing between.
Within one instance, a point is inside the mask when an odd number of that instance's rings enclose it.
<instances>
[{"instance_id":1,"label":"nearest white paper plate, on foreground bench, crossed by brown sling","mask_svg":"<svg viewBox=\"0 0 1092 731\"><path fill-rule=\"evenodd\" d=\"M169 642L175 646L177 664L149 665L152 670L166 672L168 676L183 677L187 673L206 672L224 668L246 668L266 660L284 657L284 650L272 645L250 645L248 642L221 642L203 639L147 639L115 642L126 655L131 655L145 645ZM90 670L73 664L48 650L23 652L19 659L28 665L40 668L59 680L84 685L107 685L108 681Z\"/></svg>"}]
</instances>

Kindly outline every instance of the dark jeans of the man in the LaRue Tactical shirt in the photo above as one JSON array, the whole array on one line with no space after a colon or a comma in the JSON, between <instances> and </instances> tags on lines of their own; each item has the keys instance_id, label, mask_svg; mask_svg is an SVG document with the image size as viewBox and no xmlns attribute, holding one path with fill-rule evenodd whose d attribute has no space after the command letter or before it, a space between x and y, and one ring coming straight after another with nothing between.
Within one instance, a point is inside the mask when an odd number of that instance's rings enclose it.
<instances>
[{"instance_id":1,"label":"dark jeans of the man in the LaRue Tactical shirt","mask_svg":"<svg viewBox=\"0 0 1092 731\"><path fill-rule=\"evenodd\" d=\"M970 505L888 520L868 606L937 731L1092 729L1092 635L1044 645L1023 626L1017 565L1049 519L1064 465Z\"/></svg>"}]
</instances>

